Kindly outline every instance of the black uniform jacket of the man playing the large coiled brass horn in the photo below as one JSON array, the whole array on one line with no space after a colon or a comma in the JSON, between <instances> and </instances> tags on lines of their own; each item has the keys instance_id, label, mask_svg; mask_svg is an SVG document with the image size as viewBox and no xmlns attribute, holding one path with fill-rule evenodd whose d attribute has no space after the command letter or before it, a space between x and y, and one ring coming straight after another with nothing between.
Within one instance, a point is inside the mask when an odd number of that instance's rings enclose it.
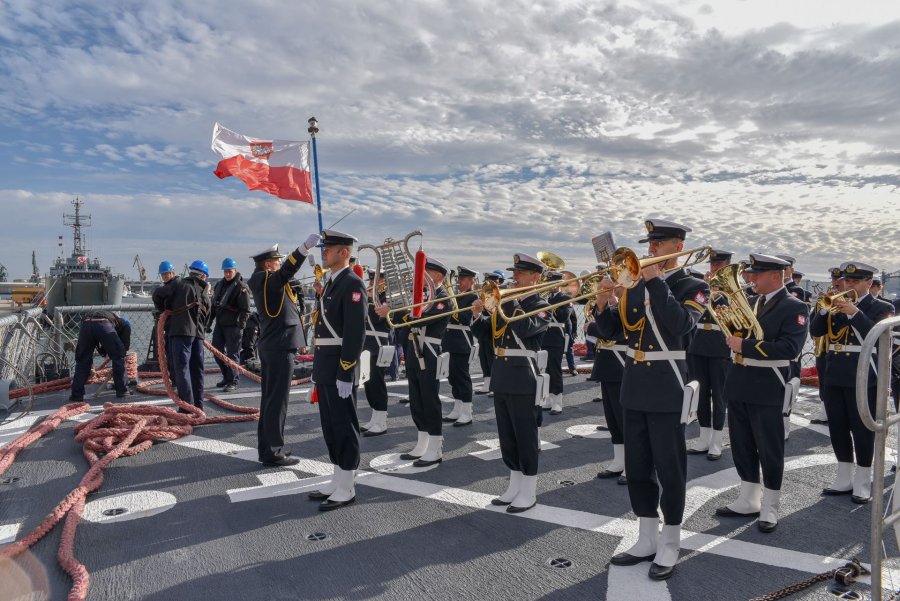
<instances>
[{"instance_id":1,"label":"black uniform jacket of the man playing the large coiled brass horn","mask_svg":"<svg viewBox=\"0 0 900 601\"><path fill-rule=\"evenodd\" d=\"M747 365L751 361L794 361L803 349L809 330L809 307L802 300L779 290L765 307L759 308L762 296L751 297L756 319L763 329L763 339L745 338L740 356L735 355L725 377L725 398L754 405L784 403L784 383L790 379L790 367ZM780 373L780 377L776 374Z\"/></svg>"}]
</instances>

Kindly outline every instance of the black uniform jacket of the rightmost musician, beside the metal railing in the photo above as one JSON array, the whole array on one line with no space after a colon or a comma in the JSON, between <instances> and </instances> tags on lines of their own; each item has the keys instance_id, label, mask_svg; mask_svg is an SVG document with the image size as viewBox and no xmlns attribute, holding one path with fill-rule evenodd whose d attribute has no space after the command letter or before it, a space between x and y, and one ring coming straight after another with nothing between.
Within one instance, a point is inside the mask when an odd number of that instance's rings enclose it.
<instances>
[{"instance_id":1,"label":"black uniform jacket of the rightmost musician, beside the metal railing","mask_svg":"<svg viewBox=\"0 0 900 601\"><path fill-rule=\"evenodd\" d=\"M825 355L825 378L827 386L856 386L856 365L860 355L844 350L845 346L859 347L869 334L869 330L885 317L894 314L894 306L882 299L867 294L857 303L859 311L853 317L843 313L813 315L809 333L813 336L828 336L828 354ZM869 386L875 386L875 354L869 361Z\"/></svg>"}]
</instances>

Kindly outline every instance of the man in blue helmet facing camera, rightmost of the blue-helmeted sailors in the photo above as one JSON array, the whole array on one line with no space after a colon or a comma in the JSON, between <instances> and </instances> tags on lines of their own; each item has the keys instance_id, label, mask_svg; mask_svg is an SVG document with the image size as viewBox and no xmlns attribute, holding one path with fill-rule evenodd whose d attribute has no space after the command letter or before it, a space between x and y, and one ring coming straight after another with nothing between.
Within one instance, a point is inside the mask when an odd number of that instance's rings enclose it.
<instances>
[{"instance_id":1,"label":"man in blue helmet facing camera, rightmost of the blue-helmeted sailors","mask_svg":"<svg viewBox=\"0 0 900 601\"><path fill-rule=\"evenodd\" d=\"M239 363L244 327L250 317L250 290L237 270L237 261L227 258L222 261L223 278L213 287L210 323L216 322L213 330L213 347L234 363ZM231 392L238 385L238 372L225 361L216 357L216 364L222 371L222 379L216 386Z\"/></svg>"}]
</instances>

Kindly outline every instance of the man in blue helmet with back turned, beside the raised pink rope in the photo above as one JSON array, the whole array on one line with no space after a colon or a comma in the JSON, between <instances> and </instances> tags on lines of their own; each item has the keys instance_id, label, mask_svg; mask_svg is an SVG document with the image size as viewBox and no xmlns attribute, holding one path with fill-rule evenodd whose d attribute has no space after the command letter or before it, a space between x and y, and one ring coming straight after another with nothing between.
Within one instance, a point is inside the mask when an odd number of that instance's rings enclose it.
<instances>
[{"instance_id":1,"label":"man in blue helmet with back turned, beside the raised pink rope","mask_svg":"<svg viewBox=\"0 0 900 601\"><path fill-rule=\"evenodd\" d=\"M172 354L173 380L178 396L203 409L203 341L210 312L210 290L205 261L194 261L188 276L173 280L153 295L156 308L170 311L166 325L168 352Z\"/></svg>"}]
</instances>

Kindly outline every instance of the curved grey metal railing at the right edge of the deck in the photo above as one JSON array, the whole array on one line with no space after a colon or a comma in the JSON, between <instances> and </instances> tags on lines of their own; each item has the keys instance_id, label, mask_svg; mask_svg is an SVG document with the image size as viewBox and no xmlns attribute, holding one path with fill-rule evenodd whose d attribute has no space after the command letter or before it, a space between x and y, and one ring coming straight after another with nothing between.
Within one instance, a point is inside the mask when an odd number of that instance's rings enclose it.
<instances>
[{"instance_id":1,"label":"curved grey metal railing at the right edge of the deck","mask_svg":"<svg viewBox=\"0 0 900 601\"><path fill-rule=\"evenodd\" d=\"M887 454L887 437L891 426L900 423L900 415L888 417L888 399L891 389L891 350L895 328L900 327L900 317L891 317L875 324L866 336L859 353L860 361L856 366L856 409L863 424L875 432L874 478L872 482L872 527L869 541L872 554L872 599L881 599L881 568L884 557L883 536L885 528L894 526L895 535L900 539L898 522L900 522L900 499L898 492L900 479L894 480L894 501L892 511L884 514L884 463ZM875 392L875 416L869 411L869 366L871 357L878 347L877 387ZM898 541L900 542L900 541ZM877 595L877 597L876 597Z\"/></svg>"}]
</instances>

